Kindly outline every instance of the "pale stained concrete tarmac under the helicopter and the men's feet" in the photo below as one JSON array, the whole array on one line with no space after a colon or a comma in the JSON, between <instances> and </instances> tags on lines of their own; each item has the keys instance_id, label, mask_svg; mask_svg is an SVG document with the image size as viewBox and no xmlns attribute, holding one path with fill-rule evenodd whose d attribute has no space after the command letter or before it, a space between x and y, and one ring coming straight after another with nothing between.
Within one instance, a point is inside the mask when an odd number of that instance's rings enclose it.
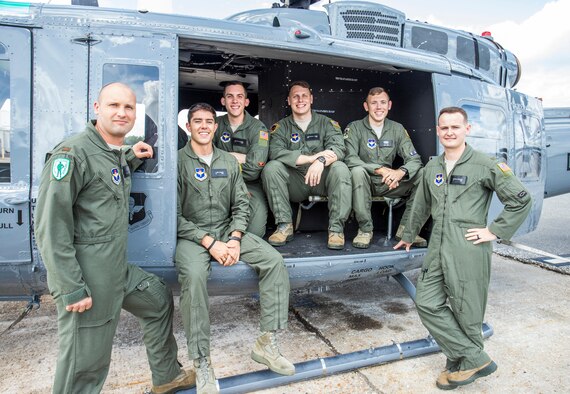
<instances>
[{"instance_id":1,"label":"pale stained concrete tarmac under the helicopter and the men's feet","mask_svg":"<svg viewBox=\"0 0 570 394\"><path fill-rule=\"evenodd\" d=\"M539 229L515 240L552 253L570 253L566 225L569 208L570 196L546 200ZM531 262L531 257L526 262ZM417 270L409 276L415 282ZM486 321L495 333L485 341L485 348L499 369L455 391L570 391L569 300L570 276L564 270L552 271L494 255ZM0 303L0 331L23 306ZM180 361L190 366L178 309L175 315ZM212 360L217 377L264 369L249 357L258 334L258 300L212 297L211 316ZM55 318L53 302L44 297L39 310L0 337L1 392L50 392L57 356ZM289 329L279 335L279 342L282 353L295 363L427 336L413 302L393 279L386 278L352 282L326 293L293 294L289 318ZM440 390L435 387L435 379L444 362L444 356L436 353L260 392L436 393ZM141 393L150 386L138 323L123 313L103 391Z\"/></svg>"}]
</instances>

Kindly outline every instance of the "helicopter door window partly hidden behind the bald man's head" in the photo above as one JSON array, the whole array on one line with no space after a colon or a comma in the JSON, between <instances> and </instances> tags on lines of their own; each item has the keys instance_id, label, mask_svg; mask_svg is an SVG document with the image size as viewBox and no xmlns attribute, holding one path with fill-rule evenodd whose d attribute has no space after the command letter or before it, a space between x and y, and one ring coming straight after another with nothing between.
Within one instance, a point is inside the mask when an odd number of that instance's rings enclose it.
<instances>
[{"instance_id":1,"label":"helicopter door window partly hidden behind the bald man's head","mask_svg":"<svg viewBox=\"0 0 570 394\"><path fill-rule=\"evenodd\" d=\"M158 67L139 64L108 63L103 66L103 85L122 82L135 91L137 96L137 120L133 129L125 138L126 145L144 141L151 145L154 157L145 160L137 172L157 172L159 140L162 130L159 122L160 79Z\"/></svg>"}]
</instances>

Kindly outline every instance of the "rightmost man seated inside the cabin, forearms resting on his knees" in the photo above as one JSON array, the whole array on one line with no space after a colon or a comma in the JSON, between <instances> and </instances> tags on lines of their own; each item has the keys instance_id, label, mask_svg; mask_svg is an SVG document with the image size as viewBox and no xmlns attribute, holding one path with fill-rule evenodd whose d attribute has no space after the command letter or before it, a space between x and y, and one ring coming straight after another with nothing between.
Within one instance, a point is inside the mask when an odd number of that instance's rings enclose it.
<instances>
[{"instance_id":1,"label":"rightmost man seated inside the cabin, forearms resting on his knees","mask_svg":"<svg viewBox=\"0 0 570 394\"><path fill-rule=\"evenodd\" d=\"M372 196L405 198L406 211L396 233L401 237L413 202L413 191L421 176L422 161L404 127L387 118L392 108L388 92L380 87L370 89L364 102L368 115L350 123L344 131L345 162L352 173L352 209L358 222L358 234L352 241L355 248L368 248L372 241ZM392 168L394 159L404 161ZM416 246L426 246L417 236Z\"/></svg>"}]
</instances>

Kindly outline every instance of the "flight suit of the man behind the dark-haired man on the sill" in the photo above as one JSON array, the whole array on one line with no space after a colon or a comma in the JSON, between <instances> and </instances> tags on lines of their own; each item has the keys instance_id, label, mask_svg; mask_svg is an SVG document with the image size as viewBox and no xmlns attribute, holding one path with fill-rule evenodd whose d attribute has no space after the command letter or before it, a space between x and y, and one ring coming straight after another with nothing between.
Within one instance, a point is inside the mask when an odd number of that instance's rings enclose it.
<instances>
[{"instance_id":1,"label":"flight suit of the man behind the dark-haired man on the sill","mask_svg":"<svg viewBox=\"0 0 570 394\"><path fill-rule=\"evenodd\" d=\"M214 145L226 152L246 155L241 165L241 174L249 192L249 224L247 232L259 237L265 235L267 224L267 199L261 185L261 170L269 155L269 132L267 127L245 111L243 123L232 131L228 115L216 119L218 129L214 136Z\"/></svg>"}]
</instances>

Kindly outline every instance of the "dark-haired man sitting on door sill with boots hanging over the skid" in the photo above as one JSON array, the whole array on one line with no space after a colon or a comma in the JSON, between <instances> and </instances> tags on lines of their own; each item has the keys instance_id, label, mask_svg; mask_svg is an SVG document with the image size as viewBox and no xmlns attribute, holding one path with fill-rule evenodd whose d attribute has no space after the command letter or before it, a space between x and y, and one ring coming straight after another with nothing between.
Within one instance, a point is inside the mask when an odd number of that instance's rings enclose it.
<instances>
[{"instance_id":1,"label":"dark-haired man sitting on door sill with boots hanging over the skid","mask_svg":"<svg viewBox=\"0 0 570 394\"><path fill-rule=\"evenodd\" d=\"M217 127L215 116L216 111L208 104L190 107L186 124L190 143L178 154L176 268L181 288L180 312L199 394L218 392L210 360L206 287L211 259L224 267L241 259L257 272L261 335L251 358L274 372L295 373L295 366L281 355L275 338L275 331L287 326L288 272L275 249L246 232L247 189L235 158L212 144Z\"/></svg>"}]
</instances>

